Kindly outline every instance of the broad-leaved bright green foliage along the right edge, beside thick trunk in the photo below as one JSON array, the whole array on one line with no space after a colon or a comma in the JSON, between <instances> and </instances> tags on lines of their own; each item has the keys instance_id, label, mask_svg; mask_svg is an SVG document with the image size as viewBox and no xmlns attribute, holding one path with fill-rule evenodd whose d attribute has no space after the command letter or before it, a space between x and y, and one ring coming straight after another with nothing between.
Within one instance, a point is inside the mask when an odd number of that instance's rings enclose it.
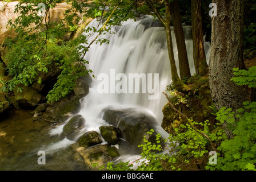
<instances>
[{"instance_id":1,"label":"broad-leaved bright green foliage along the right edge, beside thick trunk","mask_svg":"<svg viewBox=\"0 0 256 182\"><path fill-rule=\"evenodd\" d=\"M249 71L234 69L232 78L237 85L248 85L255 88L255 68ZM224 140L218 147L221 156L218 165L210 169L218 170L256 170L256 102L243 102L238 110L222 107L217 118L222 124L227 123L233 130L234 137Z\"/></svg>"}]
</instances>

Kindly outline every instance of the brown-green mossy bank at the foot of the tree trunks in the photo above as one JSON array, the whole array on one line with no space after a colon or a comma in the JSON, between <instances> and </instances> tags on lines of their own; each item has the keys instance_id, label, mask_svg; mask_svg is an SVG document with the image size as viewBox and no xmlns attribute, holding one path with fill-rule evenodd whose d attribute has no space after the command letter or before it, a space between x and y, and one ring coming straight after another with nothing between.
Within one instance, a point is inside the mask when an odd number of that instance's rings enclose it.
<instances>
[{"instance_id":1,"label":"brown-green mossy bank at the foot of the tree trunks","mask_svg":"<svg viewBox=\"0 0 256 182\"><path fill-rule=\"evenodd\" d=\"M187 117L197 122L203 122L208 119L214 122L214 116L210 113L212 110L209 106L213 105L209 79L207 76L193 76L186 80L191 90L187 93L178 92L173 86L169 86L171 102L175 108ZM163 129L170 134L175 134L174 129L181 124L187 123L177 111L173 110L169 103L163 109Z\"/></svg>"}]
</instances>

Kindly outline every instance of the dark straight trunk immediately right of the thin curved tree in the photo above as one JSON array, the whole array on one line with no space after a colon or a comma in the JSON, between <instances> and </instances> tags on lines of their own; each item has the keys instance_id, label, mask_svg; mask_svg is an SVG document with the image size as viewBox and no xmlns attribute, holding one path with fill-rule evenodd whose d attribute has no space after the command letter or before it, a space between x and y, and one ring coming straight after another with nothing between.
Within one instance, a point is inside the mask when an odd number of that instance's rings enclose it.
<instances>
[{"instance_id":1,"label":"dark straight trunk immediately right of the thin curved tree","mask_svg":"<svg viewBox=\"0 0 256 182\"><path fill-rule=\"evenodd\" d=\"M179 58L179 76L181 80L185 77L190 77L189 59L187 58L187 49L185 44L185 36L183 33L183 26L181 21L181 14L179 12L178 0L170 3L170 13L173 18L173 27L178 49Z\"/></svg>"}]
</instances>

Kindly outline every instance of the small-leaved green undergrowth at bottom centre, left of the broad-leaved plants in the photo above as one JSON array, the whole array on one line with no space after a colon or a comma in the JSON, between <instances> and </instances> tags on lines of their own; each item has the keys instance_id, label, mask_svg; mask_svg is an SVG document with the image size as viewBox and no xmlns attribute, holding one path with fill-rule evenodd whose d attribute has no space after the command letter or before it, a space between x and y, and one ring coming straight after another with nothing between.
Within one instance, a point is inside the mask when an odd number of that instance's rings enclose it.
<instances>
[{"instance_id":1,"label":"small-leaved green undergrowth at bottom centre, left of the broad-leaved plants","mask_svg":"<svg viewBox=\"0 0 256 182\"><path fill-rule=\"evenodd\" d=\"M163 139L161 134L158 134L156 144L144 138L144 144L138 146L142 147L142 152L141 159L136 162L137 168L134 168L134 162L130 163L129 161L118 164L108 163L106 169L112 171L203 169L206 166L209 151L213 148L211 148L209 140L195 131L191 125L197 127L198 131L207 134L215 144L219 144L221 140L226 138L224 131L219 128L210 132L209 121L204 123L191 121L191 124L180 125L179 128L175 129L175 134L170 134L169 138ZM151 130L148 134L153 134L153 132L154 130Z\"/></svg>"}]
</instances>

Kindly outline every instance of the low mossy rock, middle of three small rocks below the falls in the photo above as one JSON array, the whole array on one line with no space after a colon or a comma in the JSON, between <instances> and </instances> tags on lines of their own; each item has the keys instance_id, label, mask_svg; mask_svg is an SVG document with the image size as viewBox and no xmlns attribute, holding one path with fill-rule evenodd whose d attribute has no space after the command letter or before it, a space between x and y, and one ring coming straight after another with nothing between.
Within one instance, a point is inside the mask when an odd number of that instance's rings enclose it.
<instances>
[{"instance_id":1,"label":"low mossy rock, middle of three small rocks below the falls","mask_svg":"<svg viewBox=\"0 0 256 182\"><path fill-rule=\"evenodd\" d=\"M102 142L101 136L96 131L88 131L77 141L79 147L90 147Z\"/></svg>"}]
</instances>

